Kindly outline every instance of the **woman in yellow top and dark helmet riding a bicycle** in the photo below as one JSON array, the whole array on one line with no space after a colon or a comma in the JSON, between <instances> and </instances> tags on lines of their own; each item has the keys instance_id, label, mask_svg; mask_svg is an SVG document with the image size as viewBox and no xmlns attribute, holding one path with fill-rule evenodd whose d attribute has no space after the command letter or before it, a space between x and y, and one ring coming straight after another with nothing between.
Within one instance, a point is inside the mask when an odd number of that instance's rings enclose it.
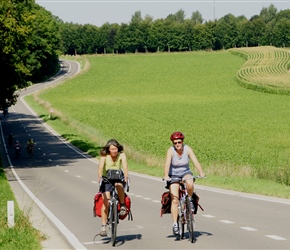
<instances>
[{"instance_id":1,"label":"woman in yellow top and dark helmet riding a bicycle","mask_svg":"<svg viewBox=\"0 0 290 250\"><path fill-rule=\"evenodd\" d=\"M102 180L102 176L106 176L106 172L108 169L116 169L121 170L123 168L124 174L124 182L116 182L114 183L118 197L121 205L120 215L123 216L127 213L126 205L124 204L124 186L128 181L128 162L126 154L123 152L123 146L115 139L111 139L107 142L106 146L104 146L100 151L100 162L98 169L98 181ZM107 236L106 223L108 218L108 208L109 208L109 200L110 200L110 192L113 190L113 186L111 183L106 182L104 179L102 181L102 185L100 187L102 195L103 195L103 207L102 207L102 229L100 232L100 236Z\"/></svg>"}]
</instances>

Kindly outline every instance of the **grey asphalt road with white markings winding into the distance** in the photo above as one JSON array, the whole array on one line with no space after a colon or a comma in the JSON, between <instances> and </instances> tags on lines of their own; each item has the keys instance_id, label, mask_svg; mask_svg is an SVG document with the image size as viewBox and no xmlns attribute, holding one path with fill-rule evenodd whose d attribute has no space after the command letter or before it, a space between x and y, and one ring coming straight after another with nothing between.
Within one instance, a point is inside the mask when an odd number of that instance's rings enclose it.
<instances>
[{"instance_id":1,"label":"grey asphalt road with white markings winding into the distance","mask_svg":"<svg viewBox=\"0 0 290 250\"><path fill-rule=\"evenodd\" d=\"M76 63L63 62L59 76L20 95L55 84L59 77L65 80L77 71ZM1 124L4 136L12 132L22 145L29 137L37 143L33 158L24 147L20 159L15 159L12 148L7 152L20 181L71 248L112 248L109 237L96 236L101 226L101 219L93 217L97 160L63 140L22 98ZM118 225L116 248L290 249L290 200L209 188L201 186L202 179L197 180L196 191L204 211L196 215L197 241L191 244L172 235L170 215L160 216L160 198L165 191L161 179L132 172L130 178L133 221L125 219Z\"/></svg>"}]
</instances>

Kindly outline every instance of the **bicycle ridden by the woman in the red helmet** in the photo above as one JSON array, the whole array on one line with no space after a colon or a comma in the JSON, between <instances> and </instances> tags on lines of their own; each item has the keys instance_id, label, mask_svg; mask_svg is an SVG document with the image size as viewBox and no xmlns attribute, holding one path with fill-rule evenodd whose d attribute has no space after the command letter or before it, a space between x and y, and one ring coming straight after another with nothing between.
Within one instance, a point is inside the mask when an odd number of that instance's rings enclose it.
<instances>
[{"instance_id":1,"label":"bicycle ridden by the woman in the red helmet","mask_svg":"<svg viewBox=\"0 0 290 250\"><path fill-rule=\"evenodd\" d=\"M184 228L185 224L187 225L187 230L189 233L189 240L191 243L196 241L194 237L194 229L195 229L195 219L194 214L197 211L197 207L199 206L202 210L203 208L199 204L194 204L192 198L189 196L186 188L186 180L195 180L196 178L204 178L200 176L192 176L190 178L172 178L177 179L179 181L179 203L178 203L178 216L177 223L179 228L179 239L184 238ZM169 179L171 180L171 179Z\"/></svg>"}]
</instances>

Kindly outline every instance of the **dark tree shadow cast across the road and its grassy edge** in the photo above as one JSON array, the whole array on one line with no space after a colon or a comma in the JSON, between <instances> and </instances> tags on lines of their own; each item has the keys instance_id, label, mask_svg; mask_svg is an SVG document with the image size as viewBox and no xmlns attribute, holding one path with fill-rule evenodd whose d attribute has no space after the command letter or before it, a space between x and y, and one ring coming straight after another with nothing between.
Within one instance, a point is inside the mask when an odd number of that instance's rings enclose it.
<instances>
[{"instance_id":1,"label":"dark tree shadow cast across the road and its grassy edge","mask_svg":"<svg viewBox=\"0 0 290 250\"><path fill-rule=\"evenodd\" d=\"M20 113L10 113L9 117L2 120L2 129L7 146L8 155L14 168L45 168L57 166L67 166L78 159L83 159L81 152L99 152L100 147L87 141L73 139L76 135L65 134L62 137L53 135L42 125L42 122L33 115ZM21 144L21 154L19 159L15 157L15 150L8 146L8 135L13 134L14 142L18 140ZM34 155L31 157L26 152L26 145L29 138L33 138ZM64 143L65 139L71 140L72 144ZM74 148L75 150L72 150ZM93 158L87 155L88 158ZM7 167L7 166L4 166Z\"/></svg>"}]
</instances>

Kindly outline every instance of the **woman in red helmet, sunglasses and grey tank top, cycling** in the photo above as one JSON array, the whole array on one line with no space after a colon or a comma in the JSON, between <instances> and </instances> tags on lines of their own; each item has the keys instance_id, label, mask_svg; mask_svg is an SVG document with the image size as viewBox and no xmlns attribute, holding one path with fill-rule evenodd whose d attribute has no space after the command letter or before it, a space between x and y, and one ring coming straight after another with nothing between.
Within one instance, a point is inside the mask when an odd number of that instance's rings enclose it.
<instances>
[{"instance_id":1,"label":"woman in red helmet, sunglasses and grey tank top, cycling","mask_svg":"<svg viewBox=\"0 0 290 250\"><path fill-rule=\"evenodd\" d=\"M189 168L189 160L192 160L201 177L204 177L205 175L192 148L183 143L184 134L181 132L174 132L170 136L170 140L172 141L173 146L167 150L164 165L164 179L167 180L167 187L169 186L171 195L171 214L173 219L172 231L173 234L178 235L179 229L177 224L177 216L179 202L179 180L182 178L189 178L186 180L187 192L190 197L194 192L193 179L191 179L193 174Z\"/></svg>"}]
</instances>

